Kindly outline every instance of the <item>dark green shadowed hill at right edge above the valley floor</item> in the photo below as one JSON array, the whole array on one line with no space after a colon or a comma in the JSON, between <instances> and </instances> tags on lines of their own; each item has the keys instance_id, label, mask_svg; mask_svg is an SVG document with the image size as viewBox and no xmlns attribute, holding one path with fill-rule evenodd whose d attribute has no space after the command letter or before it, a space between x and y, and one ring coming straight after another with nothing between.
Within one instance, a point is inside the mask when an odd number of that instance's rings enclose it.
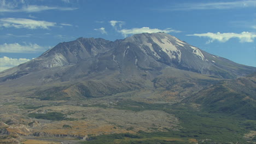
<instances>
[{"instance_id":1,"label":"dark green shadowed hill at right edge above the valley floor","mask_svg":"<svg viewBox=\"0 0 256 144\"><path fill-rule=\"evenodd\" d=\"M222 84L214 86L206 93L196 94L194 98L190 99L193 99L195 103L201 104L202 109L210 113L224 113L228 116L236 115L237 117L256 120L255 102L250 99L245 100L245 97L247 95L232 92Z\"/></svg>"}]
</instances>

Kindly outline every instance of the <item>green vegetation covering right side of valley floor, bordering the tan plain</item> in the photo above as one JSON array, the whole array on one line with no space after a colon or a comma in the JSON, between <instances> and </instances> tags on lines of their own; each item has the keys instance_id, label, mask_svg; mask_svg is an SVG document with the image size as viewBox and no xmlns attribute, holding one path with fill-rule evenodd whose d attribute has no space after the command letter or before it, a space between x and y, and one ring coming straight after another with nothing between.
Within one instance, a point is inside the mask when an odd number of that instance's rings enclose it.
<instances>
[{"instance_id":1,"label":"green vegetation covering right side of valley floor, bordering the tan plain","mask_svg":"<svg viewBox=\"0 0 256 144\"><path fill-rule=\"evenodd\" d=\"M170 129L167 132L145 133L139 131L136 136L140 138L127 139L122 138L120 143L179 143L179 141L167 141L164 137L183 140L181 143L188 143L189 139L197 141L211 139L211 142L227 143L238 142L247 143L243 139L243 135L249 130L255 130L256 122L245 118L237 117L236 115L223 115L223 113L209 113L207 111L196 111L185 104L147 104L137 101L120 101L115 105L115 109L143 111L143 110L161 110L167 113L174 114L179 119L179 131ZM91 137L90 137L91 138ZM163 140L164 139L164 140ZM111 141L110 141L111 140ZM94 136L87 143L97 143L108 141L113 143L117 139L114 135ZM120 141L120 140L119 140ZM86 142L85 142L86 143ZM207 143L207 142L201 142Z\"/></svg>"}]
</instances>

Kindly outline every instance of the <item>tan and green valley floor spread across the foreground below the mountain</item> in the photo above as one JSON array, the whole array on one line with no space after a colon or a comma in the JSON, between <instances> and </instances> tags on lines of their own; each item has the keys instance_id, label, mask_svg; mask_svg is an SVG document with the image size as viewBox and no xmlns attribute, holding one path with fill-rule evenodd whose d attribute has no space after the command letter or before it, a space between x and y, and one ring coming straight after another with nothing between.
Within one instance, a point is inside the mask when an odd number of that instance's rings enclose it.
<instances>
[{"instance_id":1,"label":"tan and green valley floor spread across the foreground below the mountain","mask_svg":"<svg viewBox=\"0 0 256 144\"><path fill-rule=\"evenodd\" d=\"M5 95L1 143L254 143L256 122L200 105L126 97L47 101Z\"/></svg>"}]
</instances>

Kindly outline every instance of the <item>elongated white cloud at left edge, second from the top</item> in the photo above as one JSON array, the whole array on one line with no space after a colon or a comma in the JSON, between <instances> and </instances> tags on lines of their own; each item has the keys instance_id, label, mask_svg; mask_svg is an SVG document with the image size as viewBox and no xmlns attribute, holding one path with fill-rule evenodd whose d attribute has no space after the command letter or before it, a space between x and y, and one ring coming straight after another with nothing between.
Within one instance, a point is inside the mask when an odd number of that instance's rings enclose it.
<instances>
[{"instance_id":1,"label":"elongated white cloud at left edge, second from the top","mask_svg":"<svg viewBox=\"0 0 256 144\"><path fill-rule=\"evenodd\" d=\"M53 27L55 25L56 25L55 22L36 21L36 20L31 20L31 19L20 19L20 18L2 18L2 19L0 19L0 27L48 29L49 27Z\"/></svg>"}]
</instances>

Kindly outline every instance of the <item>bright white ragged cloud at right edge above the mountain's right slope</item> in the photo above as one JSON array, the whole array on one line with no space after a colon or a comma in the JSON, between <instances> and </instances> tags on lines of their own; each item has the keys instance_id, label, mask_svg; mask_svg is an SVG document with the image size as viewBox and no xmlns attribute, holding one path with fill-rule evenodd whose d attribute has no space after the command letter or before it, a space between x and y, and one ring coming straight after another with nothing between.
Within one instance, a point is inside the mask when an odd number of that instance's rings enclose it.
<instances>
[{"instance_id":1,"label":"bright white ragged cloud at right edge above the mountain's right slope","mask_svg":"<svg viewBox=\"0 0 256 144\"><path fill-rule=\"evenodd\" d=\"M241 43L251 43L254 38L256 38L256 33L252 32L242 32L242 33L201 33L201 34L188 34L188 36L196 36L196 37L207 37L210 38L207 43L212 43L214 40L220 41L222 43L228 41L231 38L240 39Z\"/></svg>"}]
</instances>

